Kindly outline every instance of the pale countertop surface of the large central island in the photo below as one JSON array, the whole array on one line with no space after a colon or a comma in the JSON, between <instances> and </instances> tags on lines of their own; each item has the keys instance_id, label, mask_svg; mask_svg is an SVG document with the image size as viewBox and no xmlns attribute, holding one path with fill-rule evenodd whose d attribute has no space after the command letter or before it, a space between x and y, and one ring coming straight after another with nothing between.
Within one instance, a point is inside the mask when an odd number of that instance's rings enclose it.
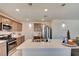
<instances>
[{"instance_id":1,"label":"pale countertop surface of the large central island","mask_svg":"<svg viewBox=\"0 0 79 59\"><path fill-rule=\"evenodd\" d=\"M24 48L71 48L64 46L62 44L62 40L52 39L49 42L32 42L31 39L26 40L17 49L24 49Z\"/></svg>"}]
</instances>

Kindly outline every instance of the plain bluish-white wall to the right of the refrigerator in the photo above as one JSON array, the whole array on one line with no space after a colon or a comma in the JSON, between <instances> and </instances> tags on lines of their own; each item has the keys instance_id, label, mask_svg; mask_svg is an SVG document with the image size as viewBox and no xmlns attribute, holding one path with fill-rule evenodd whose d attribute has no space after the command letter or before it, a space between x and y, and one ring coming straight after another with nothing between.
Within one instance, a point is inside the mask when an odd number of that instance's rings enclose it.
<instances>
[{"instance_id":1,"label":"plain bluish-white wall to the right of the refrigerator","mask_svg":"<svg viewBox=\"0 0 79 59\"><path fill-rule=\"evenodd\" d=\"M66 27L63 28L62 24L66 24ZM52 38L53 39L62 39L66 36L67 29L70 31L71 38L76 38L79 36L79 20L52 20Z\"/></svg>"}]
</instances>

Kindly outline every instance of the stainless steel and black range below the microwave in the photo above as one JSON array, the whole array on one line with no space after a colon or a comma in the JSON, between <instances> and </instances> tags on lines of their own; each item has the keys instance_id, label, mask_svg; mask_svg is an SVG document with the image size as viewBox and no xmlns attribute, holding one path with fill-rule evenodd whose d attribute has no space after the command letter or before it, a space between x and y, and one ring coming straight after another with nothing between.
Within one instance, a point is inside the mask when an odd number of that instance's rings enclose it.
<instances>
[{"instance_id":1,"label":"stainless steel and black range below the microwave","mask_svg":"<svg viewBox=\"0 0 79 59\"><path fill-rule=\"evenodd\" d=\"M12 38L10 35L0 35L0 40L7 40L6 42L6 48L7 48L7 55L9 54L9 51L16 47L16 38Z\"/></svg>"}]
</instances>

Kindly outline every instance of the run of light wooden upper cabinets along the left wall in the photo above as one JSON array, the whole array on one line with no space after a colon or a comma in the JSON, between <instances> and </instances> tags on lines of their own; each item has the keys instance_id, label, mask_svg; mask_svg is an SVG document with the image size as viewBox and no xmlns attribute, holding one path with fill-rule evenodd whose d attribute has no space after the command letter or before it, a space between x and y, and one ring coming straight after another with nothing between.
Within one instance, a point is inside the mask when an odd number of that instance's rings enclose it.
<instances>
[{"instance_id":1,"label":"run of light wooden upper cabinets along the left wall","mask_svg":"<svg viewBox=\"0 0 79 59\"><path fill-rule=\"evenodd\" d=\"M21 32L22 31L22 24L19 22L16 22L12 19L6 18L4 16L0 16L0 23L2 23L2 25L0 25L0 27L3 30L3 24L7 25L6 29L8 28L8 26L11 26L11 30L10 31L18 31Z\"/></svg>"}]
</instances>

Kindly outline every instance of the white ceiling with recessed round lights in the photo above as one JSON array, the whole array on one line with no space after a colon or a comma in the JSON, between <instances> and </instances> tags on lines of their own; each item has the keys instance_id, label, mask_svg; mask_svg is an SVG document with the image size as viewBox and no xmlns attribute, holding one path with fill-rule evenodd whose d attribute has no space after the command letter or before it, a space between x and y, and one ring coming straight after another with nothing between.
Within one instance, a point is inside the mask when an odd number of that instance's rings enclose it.
<instances>
[{"instance_id":1,"label":"white ceiling with recessed round lights","mask_svg":"<svg viewBox=\"0 0 79 59\"><path fill-rule=\"evenodd\" d=\"M79 4L71 3L61 6L62 3L33 3L32 6L28 3L0 3L0 12L18 19L26 21L45 21L54 19L79 19ZM19 12L16 9L20 9ZM45 12L44 9L48 11ZM44 17L46 15L47 17Z\"/></svg>"}]
</instances>

